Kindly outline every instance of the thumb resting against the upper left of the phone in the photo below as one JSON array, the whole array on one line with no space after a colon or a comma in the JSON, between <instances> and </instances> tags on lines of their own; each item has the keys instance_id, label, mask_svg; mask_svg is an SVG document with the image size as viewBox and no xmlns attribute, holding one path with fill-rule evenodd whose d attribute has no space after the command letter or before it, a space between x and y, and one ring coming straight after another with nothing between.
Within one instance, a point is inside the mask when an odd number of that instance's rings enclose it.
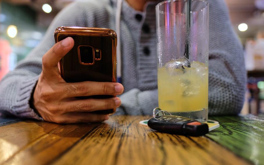
<instances>
[{"instance_id":1,"label":"thumb resting against the upper left of the phone","mask_svg":"<svg viewBox=\"0 0 264 165\"><path fill-rule=\"evenodd\" d=\"M58 71L58 62L74 46L74 40L71 37L57 42L42 58L43 71L52 73Z\"/></svg>"}]
</instances>

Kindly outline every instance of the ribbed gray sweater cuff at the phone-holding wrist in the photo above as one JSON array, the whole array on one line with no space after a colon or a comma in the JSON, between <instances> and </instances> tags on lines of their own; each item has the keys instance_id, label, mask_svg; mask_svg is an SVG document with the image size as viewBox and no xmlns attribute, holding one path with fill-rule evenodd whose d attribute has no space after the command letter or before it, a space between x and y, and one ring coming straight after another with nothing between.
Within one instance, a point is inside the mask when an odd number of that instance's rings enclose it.
<instances>
[{"instance_id":1,"label":"ribbed gray sweater cuff at the phone-holding wrist","mask_svg":"<svg viewBox=\"0 0 264 165\"><path fill-rule=\"evenodd\" d=\"M35 89L39 76L34 78L28 78L20 83L18 87L17 100L14 106L12 106L12 111L16 116L22 118L32 118L37 120L43 120L31 107L30 98Z\"/></svg>"}]
</instances>

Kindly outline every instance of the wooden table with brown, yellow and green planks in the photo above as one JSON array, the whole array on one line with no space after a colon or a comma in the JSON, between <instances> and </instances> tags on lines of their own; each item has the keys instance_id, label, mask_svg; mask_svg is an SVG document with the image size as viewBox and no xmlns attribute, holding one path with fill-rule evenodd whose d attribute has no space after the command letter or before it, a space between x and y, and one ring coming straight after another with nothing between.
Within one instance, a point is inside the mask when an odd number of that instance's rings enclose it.
<instances>
[{"instance_id":1,"label":"wooden table with brown, yellow and green planks","mask_svg":"<svg viewBox=\"0 0 264 165\"><path fill-rule=\"evenodd\" d=\"M264 164L263 117L210 117L220 128L202 137L155 132L139 124L149 118L9 123L0 127L0 164Z\"/></svg>"}]
</instances>

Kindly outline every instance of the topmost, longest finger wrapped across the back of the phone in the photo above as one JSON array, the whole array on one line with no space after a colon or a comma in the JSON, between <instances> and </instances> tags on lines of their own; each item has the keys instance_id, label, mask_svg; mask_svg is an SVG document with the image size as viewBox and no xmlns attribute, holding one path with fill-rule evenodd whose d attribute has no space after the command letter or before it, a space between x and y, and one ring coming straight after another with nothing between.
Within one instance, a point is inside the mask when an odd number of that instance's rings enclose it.
<instances>
[{"instance_id":1,"label":"topmost, longest finger wrapped across the back of the phone","mask_svg":"<svg viewBox=\"0 0 264 165\"><path fill-rule=\"evenodd\" d=\"M124 87L120 83L92 81L66 83L62 88L63 98L93 95L120 95L124 91Z\"/></svg>"}]
</instances>

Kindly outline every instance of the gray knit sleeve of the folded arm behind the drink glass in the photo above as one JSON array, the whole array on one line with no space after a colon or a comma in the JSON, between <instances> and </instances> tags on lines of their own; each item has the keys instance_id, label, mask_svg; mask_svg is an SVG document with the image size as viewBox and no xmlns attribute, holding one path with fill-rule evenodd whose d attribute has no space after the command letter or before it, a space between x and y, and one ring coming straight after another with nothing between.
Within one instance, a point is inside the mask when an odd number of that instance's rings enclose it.
<instances>
[{"instance_id":1,"label":"gray knit sleeve of the folded arm behind the drink glass","mask_svg":"<svg viewBox=\"0 0 264 165\"><path fill-rule=\"evenodd\" d=\"M244 103L246 71L243 49L224 0L209 2L209 114L238 114ZM132 89L120 96L119 114L151 114L158 91Z\"/></svg>"}]
</instances>

